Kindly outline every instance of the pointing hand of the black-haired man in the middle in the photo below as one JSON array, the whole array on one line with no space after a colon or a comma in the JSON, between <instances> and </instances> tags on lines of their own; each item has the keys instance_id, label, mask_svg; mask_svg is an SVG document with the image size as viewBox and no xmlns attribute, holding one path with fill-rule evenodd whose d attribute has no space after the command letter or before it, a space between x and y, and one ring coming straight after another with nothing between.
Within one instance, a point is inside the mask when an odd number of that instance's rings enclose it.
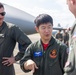
<instances>
[{"instance_id":1,"label":"pointing hand of the black-haired man in the middle","mask_svg":"<svg viewBox=\"0 0 76 75\"><path fill-rule=\"evenodd\" d=\"M26 70L31 70L33 73L35 72L35 69L38 69L36 63L32 60L28 60L24 63L24 68Z\"/></svg>"}]
</instances>

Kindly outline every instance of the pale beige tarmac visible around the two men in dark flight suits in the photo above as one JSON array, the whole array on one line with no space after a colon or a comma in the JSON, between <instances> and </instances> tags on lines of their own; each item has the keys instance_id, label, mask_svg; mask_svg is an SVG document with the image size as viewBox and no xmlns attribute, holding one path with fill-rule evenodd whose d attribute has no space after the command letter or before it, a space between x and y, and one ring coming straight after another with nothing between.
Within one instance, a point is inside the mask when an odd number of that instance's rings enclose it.
<instances>
[{"instance_id":1,"label":"pale beige tarmac visible around the two men in dark flight suits","mask_svg":"<svg viewBox=\"0 0 76 75\"><path fill-rule=\"evenodd\" d=\"M37 34L28 35L28 37L31 39L32 42L35 42L36 40L38 40L38 39L40 38L40 35L37 33ZM17 45L18 45L18 44L16 44L16 47L15 47L15 50L14 50L14 55L16 55L17 52L18 52L18 47L17 47ZM15 64L14 64L14 67L15 67L16 75L32 75L32 72L24 73L24 72L20 69L19 63L15 63Z\"/></svg>"}]
</instances>

